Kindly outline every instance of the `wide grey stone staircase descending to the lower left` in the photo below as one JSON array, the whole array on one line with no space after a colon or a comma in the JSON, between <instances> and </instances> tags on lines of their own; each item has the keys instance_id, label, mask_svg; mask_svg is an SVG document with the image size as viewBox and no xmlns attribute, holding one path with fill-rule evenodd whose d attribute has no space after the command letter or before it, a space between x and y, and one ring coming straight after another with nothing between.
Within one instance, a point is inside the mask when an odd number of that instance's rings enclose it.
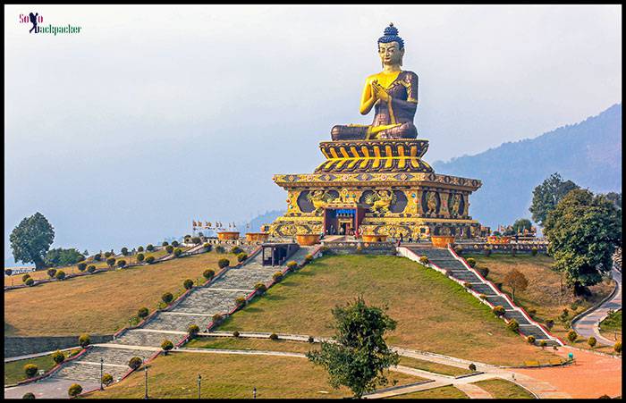
<instances>
[{"instance_id":1,"label":"wide grey stone staircase descending to the lower left","mask_svg":"<svg viewBox=\"0 0 626 403\"><path fill-rule=\"evenodd\" d=\"M301 247L287 262L295 260L301 263L314 249L315 247ZM207 287L191 290L178 304L168 310L159 311L140 328L126 330L106 345L92 346L87 353L63 365L51 378L69 379L79 383L99 382L102 358L104 373L119 380L130 370L128 362L131 357L141 357L144 360L152 357L156 351L154 348L160 348L163 340L171 340L176 345L186 337L190 324L197 324L200 332L206 330L213 315L231 312L235 307L235 298L250 295L258 282L268 284L273 280L274 273L283 271L284 268L284 265L263 266L260 253L250 256L245 264L227 269Z\"/></svg>"}]
</instances>

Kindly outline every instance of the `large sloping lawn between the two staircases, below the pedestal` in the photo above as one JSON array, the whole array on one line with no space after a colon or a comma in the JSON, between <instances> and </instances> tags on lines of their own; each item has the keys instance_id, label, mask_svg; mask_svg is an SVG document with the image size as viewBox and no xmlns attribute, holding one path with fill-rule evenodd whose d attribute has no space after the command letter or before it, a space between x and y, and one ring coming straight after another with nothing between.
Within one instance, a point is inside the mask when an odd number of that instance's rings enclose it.
<instances>
[{"instance_id":1,"label":"large sloping lawn between the two staircases, below the pedestal","mask_svg":"<svg viewBox=\"0 0 626 403\"><path fill-rule=\"evenodd\" d=\"M399 256L325 256L289 274L219 327L330 336L331 309L358 295L388 306L398 322L387 342L453 357L520 365L554 358L508 331L502 320L443 274Z\"/></svg>"}]
</instances>

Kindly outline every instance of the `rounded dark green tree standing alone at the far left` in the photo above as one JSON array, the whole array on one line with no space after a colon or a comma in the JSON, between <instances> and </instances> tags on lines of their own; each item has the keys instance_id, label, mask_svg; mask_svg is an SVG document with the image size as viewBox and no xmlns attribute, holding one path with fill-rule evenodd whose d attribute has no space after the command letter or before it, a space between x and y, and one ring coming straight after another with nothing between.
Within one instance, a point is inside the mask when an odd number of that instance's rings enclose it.
<instances>
[{"instance_id":1,"label":"rounded dark green tree standing alone at the far left","mask_svg":"<svg viewBox=\"0 0 626 403\"><path fill-rule=\"evenodd\" d=\"M55 240L55 229L41 213L24 218L9 236L13 258L22 263L34 263L40 270L46 267L45 257Z\"/></svg>"}]
</instances>

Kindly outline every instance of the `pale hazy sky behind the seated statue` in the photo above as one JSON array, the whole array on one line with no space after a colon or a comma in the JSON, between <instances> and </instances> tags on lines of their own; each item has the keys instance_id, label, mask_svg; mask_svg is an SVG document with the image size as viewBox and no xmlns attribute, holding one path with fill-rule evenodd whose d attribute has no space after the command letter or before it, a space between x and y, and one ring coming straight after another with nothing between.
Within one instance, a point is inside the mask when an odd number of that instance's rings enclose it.
<instances>
[{"instance_id":1,"label":"pale hazy sky behind the seated statue","mask_svg":"<svg viewBox=\"0 0 626 403\"><path fill-rule=\"evenodd\" d=\"M80 34L29 34L40 24ZM536 137L622 100L615 6L4 6L4 257L41 212L91 252L284 208L360 116L376 39L419 75L425 160Z\"/></svg>"}]
</instances>

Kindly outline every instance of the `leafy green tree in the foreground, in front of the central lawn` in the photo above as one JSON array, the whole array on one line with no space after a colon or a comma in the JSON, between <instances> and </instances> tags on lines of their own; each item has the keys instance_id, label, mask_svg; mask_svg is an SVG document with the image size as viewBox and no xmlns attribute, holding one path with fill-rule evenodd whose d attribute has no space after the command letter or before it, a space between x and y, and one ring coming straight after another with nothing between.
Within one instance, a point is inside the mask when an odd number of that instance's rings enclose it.
<instances>
[{"instance_id":1,"label":"leafy green tree in the foreground, in front of the central lawn","mask_svg":"<svg viewBox=\"0 0 626 403\"><path fill-rule=\"evenodd\" d=\"M385 385L385 369L399 362L400 357L383 338L385 332L395 329L396 322L383 309L367 306L361 297L345 307L335 306L332 312L334 343L323 341L322 348L309 351L307 357L326 369L331 386L347 386L360 398Z\"/></svg>"}]
</instances>

